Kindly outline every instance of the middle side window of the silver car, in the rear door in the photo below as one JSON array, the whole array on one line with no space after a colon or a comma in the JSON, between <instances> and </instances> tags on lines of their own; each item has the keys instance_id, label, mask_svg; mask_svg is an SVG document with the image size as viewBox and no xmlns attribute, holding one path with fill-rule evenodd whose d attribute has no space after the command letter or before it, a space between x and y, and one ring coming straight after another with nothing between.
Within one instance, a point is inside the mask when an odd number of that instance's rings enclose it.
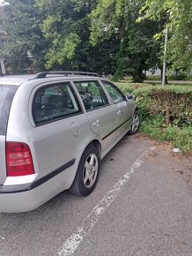
<instances>
[{"instance_id":1,"label":"middle side window of the silver car, in the rear door","mask_svg":"<svg viewBox=\"0 0 192 256\"><path fill-rule=\"evenodd\" d=\"M74 82L78 89L86 110L106 106L109 102L107 96L97 81Z\"/></svg>"}]
</instances>

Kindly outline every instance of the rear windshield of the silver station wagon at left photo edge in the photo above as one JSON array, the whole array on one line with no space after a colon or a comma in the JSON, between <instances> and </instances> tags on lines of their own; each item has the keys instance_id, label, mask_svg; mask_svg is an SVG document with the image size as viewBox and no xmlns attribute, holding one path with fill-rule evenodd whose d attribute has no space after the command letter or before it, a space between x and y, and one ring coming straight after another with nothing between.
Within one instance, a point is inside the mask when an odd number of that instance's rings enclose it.
<instances>
[{"instance_id":1,"label":"rear windshield of the silver station wagon at left photo edge","mask_svg":"<svg viewBox=\"0 0 192 256\"><path fill-rule=\"evenodd\" d=\"M0 135L6 134L11 102L17 88L17 86L0 85Z\"/></svg>"}]
</instances>

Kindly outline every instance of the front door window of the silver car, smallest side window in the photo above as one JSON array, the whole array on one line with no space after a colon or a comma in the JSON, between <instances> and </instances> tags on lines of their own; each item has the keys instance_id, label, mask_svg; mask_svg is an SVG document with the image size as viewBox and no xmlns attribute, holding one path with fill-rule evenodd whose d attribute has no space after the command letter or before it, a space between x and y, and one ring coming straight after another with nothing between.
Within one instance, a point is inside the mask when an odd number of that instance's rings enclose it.
<instances>
[{"instance_id":1,"label":"front door window of the silver car, smallest side window","mask_svg":"<svg viewBox=\"0 0 192 256\"><path fill-rule=\"evenodd\" d=\"M107 89L108 94L111 96L112 101L115 103L119 103L119 102L123 102L124 99L124 95L122 94L122 92L115 87L112 83L107 82L107 81L102 81L102 83L104 84L104 86Z\"/></svg>"}]
</instances>

